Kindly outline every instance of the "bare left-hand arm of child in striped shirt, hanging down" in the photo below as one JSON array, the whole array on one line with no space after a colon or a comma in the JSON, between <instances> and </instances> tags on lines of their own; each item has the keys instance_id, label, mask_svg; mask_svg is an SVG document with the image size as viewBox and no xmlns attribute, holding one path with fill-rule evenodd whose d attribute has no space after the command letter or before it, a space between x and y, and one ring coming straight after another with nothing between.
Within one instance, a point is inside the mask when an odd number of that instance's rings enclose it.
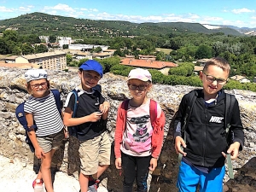
<instances>
[{"instance_id":1,"label":"bare left-hand arm of child in striped shirt, hanging down","mask_svg":"<svg viewBox=\"0 0 256 192\"><path fill-rule=\"evenodd\" d=\"M43 149L39 146L38 140L36 137L36 133L33 128L30 128L32 125L34 125L33 115L32 113L26 113L26 121L29 131L27 131L27 135L30 138L33 147L35 148L35 155L38 157L38 159L41 159L44 156Z\"/></svg>"}]
</instances>

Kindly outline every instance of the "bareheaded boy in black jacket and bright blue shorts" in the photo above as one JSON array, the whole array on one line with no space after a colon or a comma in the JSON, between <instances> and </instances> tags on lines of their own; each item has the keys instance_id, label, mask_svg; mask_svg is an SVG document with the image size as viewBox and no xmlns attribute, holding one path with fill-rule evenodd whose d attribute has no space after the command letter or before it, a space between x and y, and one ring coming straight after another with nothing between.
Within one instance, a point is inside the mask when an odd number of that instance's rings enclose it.
<instances>
[{"instance_id":1,"label":"bareheaded boy in black jacket and bright blue shorts","mask_svg":"<svg viewBox=\"0 0 256 192\"><path fill-rule=\"evenodd\" d=\"M230 64L222 58L207 61L200 79L202 90L197 91L192 113L184 134L181 127L188 108L188 94L183 96L175 119L175 149L183 154L177 177L179 191L196 191L198 185L201 192L222 192L225 174L225 153L235 160L244 142L238 102L231 113L230 130L234 132L233 143L227 148L225 134L225 96L222 90L230 74ZM183 150L181 148L183 146Z\"/></svg>"}]
</instances>

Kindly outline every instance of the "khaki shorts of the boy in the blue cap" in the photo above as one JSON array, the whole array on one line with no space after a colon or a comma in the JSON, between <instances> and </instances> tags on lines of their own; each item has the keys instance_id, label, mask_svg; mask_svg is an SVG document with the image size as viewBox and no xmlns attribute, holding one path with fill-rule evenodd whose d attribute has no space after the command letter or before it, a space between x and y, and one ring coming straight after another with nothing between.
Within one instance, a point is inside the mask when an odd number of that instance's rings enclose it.
<instances>
[{"instance_id":1,"label":"khaki shorts of the boy in the blue cap","mask_svg":"<svg viewBox=\"0 0 256 192\"><path fill-rule=\"evenodd\" d=\"M81 172L84 175L93 175L98 172L98 166L110 165L110 153L111 143L107 131L98 137L81 142L79 146Z\"/></svg>"}]
</instances>

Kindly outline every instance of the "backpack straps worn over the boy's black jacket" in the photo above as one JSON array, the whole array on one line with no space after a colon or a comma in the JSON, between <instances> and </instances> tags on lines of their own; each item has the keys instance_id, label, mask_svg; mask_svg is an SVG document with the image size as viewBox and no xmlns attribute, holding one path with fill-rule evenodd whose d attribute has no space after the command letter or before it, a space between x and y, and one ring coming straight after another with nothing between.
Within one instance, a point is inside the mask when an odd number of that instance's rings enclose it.
<instances>
[{"instance_id":1,"label":"backpack straps worn over the boy's black jacket","mask_svg":"<svg viewBox=\"0 0 256 192\"><path fill-rule=\"evenodd\" d=\"M189 118L190 118L191 113L192 113L192 108L194 106L195 99L197 98L197 96L199 94L199 91L200 90L191 90L189 92L188 107L186 109L186 114L185 114L185 117L183 119L183 127L182 127L182 130L181 130L181 133L183 135L183 140L184 140L185 143L186 143L185 131L186 131L186 128L188 126ZM230 94L226 93L225 114L224 114L224 116L225 116L225 118L224 118L224 120L225 120L225 122L224 122L225 129L221 134L225 135L228 146L230 146L230 144L233 143L233 139L234 139L234 132L230 130L231 116L230 116L229 111L233 110L235 102L236 102L236 97L234 95L230 95ZM181 146L181 148L182 148L182 146ZM226 154L226 155L227 155L227 162L228 162L229 177L234 178L233 168L232 168L231 159L230 159L230 154ZM182 157L183 157L182 154L178 154L178 158L177 158L178 165L180 165Z\"/></svg>"}]
</instances>

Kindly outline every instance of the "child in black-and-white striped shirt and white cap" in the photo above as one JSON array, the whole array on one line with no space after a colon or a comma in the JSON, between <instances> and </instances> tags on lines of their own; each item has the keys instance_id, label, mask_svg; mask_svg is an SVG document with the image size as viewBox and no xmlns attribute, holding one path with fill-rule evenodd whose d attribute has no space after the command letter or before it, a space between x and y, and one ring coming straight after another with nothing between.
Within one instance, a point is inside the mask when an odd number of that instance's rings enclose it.
<instances>
[{"instance_id":1,"label":"child in black-and-white striped shirt and white cap","mask_svg":"<svg viewBox=\"0 0 256 192\"><path fill-rule=\"evenodd\" d=\"M50 164L55 150L60 148L64 138L64 125L55 104L55 96L49 90L49 81L44 69L28 70L25 73L26 89L32 96L25 102L28 137L35 148L35 155L41 159L38 177L32 183L37 192L53 192ZM35 130L35 124L37 130ZM65 130L65 129L64 129Z\"/></svg>"}]
</instances>

